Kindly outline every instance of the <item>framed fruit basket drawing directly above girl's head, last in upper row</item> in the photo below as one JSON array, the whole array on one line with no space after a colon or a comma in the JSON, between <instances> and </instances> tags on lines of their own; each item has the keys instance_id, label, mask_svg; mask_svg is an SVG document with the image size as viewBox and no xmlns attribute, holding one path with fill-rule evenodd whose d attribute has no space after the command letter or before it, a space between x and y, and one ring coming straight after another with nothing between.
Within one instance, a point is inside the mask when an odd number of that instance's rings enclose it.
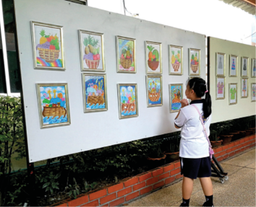
<instances>
[{"instance_id":1,"label":"framed fruit basket drawing directly above girl's head, last in upper row","mask_svg":"<svg viewBox=\"0 0 256 207\"><path fill-rule=\"evenodd\" d=\"M200 76L200 50L189 48L189 76Z\"/></svg>"}]
</instances>

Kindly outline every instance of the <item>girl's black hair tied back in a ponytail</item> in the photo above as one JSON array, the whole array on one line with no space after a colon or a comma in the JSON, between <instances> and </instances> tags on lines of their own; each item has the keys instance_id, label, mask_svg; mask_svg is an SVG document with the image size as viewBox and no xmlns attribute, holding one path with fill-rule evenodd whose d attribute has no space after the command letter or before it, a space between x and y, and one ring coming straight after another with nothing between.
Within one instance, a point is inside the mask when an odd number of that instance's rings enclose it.
<instances>
[{"instance_id":1,"label":"girl's black hair tied back in a ponytail","mask_svg":"<svg viewBox=\"0 0 256 207\"><path fill-rule=\"evenodd\" d=\"M212 113L212 100L210 98L210 93L206 92L207 87L204 79L201 78L193 78L190 79L187 83L190 89L193 89L197 97L203 97L205 95L205 99L202 102L202 111L204 118L208 118Z\"/></svg>"}]
</instances>

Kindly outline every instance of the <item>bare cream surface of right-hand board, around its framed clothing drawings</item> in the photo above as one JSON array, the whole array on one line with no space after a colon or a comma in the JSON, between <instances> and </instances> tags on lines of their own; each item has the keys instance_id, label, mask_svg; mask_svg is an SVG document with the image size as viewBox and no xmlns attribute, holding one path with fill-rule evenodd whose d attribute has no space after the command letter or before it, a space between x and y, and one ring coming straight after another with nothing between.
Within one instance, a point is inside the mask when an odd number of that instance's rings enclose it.
<instances>
[{"instance_id":1,"label":"bare cream surface of right-hand board, around its framed clothing drawings","mask_svg":"<svg viewBox=\"0 0 256 207\"><path fill-rule=\"evenodd\" d=\"M242 118L249 115L256 114L256 102L252 100L251 83L256 83L256 78L251 77L252 58L256 58L256 48L242 43L234 43L228 40L221 40L218 38L210 38L210 95L212 97L213 119L212 123L231 120L235 118ZM225 99L216 100L216 53L226 53L226 86ZM238 71L237 77L229 77L229 58L230 55L238 56ZM241 98L241 58L246 56L249 58L248 64L248 97ZM229 83L237 83L237 104L229 105Z\"/></svg>"}]
</instances>

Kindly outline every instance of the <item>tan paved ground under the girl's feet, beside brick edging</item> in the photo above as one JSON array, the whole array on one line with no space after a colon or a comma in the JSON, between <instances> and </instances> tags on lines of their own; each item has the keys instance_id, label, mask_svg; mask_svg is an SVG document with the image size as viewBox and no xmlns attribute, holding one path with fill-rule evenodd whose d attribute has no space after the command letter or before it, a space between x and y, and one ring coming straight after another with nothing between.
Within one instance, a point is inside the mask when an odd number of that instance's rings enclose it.
<instances>
[{"instance_id":1,"label":"tan paved ground under the girl's feet, beside brick edging","mask_svg":"<svg viewBox=\"0 0 256 207\"><path fill-rule=\"evenodd\" d=\"M256 149L221 162L229 180L223 184L216 177L213 181L213 201L215 207L255 207L256 206ZM182 202L182 181L129 203L129 207L179 207ZM205 202L200 181L194 183L190 207L201 207Z\"/></svg>"}]
</instances>

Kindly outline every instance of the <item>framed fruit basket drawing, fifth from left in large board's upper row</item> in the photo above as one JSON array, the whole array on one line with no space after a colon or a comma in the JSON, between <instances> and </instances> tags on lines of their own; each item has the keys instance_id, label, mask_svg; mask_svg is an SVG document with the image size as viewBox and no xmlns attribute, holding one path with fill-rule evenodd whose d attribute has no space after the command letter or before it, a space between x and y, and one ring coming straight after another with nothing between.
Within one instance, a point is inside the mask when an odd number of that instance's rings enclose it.
<instances>
[{"instance_id":1,"label":"framed fruit basket drawing, fifth from left in large board's upper row","mask_svg":"<svg viewBox=\"0 0 256 207\"><path fill-rule=\"evenodd\" d=\"M169 45L169 75L183 74L183 47Z\"/></svg>"}]
</instances>

